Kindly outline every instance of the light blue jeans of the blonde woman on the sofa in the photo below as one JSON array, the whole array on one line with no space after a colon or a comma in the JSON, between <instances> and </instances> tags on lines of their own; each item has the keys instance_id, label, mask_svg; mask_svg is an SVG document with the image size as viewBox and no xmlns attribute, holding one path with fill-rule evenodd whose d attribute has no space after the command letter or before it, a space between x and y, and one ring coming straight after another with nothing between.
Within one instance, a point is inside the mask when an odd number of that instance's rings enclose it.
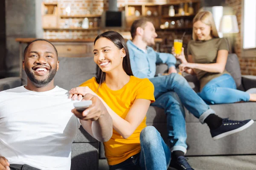
<instances>
[{"instance_id":1,"label":"light blue jeans of the blonde woman on the sofa","mask_svg":"<svg viewBox=\"0 0 256 170\"><path fill-rule=\"evenodd\" d=\"M210 104L248 102L247 92L236 90L236 82L229 74L223 74L209 81L198 95Z\"/></svg>"}]
</instances>

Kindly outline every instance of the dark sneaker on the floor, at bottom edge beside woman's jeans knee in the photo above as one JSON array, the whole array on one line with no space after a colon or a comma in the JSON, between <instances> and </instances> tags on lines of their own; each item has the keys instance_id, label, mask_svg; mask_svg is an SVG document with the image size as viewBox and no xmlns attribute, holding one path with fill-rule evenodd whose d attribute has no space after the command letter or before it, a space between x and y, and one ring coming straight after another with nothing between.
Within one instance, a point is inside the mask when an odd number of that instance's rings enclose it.
<instances>
[{"instance_id":1,"label":"dark sneaker on the floor, at bottom edge beside woman's jeans knee","mask_svg":"<svg viewBox=\"0 0 256 170\"><path fill-rule=\"evenodd\" d=\"M184 156L179 156L176 160L171 159L169 167L175 168L177 170L194 170L188 163Z\"/></svg>"}]
</instances>

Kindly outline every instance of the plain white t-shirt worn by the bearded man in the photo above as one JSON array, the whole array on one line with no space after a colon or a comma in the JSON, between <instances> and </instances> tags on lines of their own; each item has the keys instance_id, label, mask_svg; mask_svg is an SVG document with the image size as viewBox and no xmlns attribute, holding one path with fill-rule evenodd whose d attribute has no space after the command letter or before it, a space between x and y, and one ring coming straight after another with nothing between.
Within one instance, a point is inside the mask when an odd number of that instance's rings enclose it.
<instances>
[{"instance_id":1,"label":"plain white t-shirt worn by the bearded man","mask_svg":"<svg viewBox=\"0 0 256 170\"><path fill-rule=\"evenodd\" d=\"M41 170L70 170L71 144L79 119L67 91L45 92L23 86L0 92L0 156L10 164Z\"/></svg>"}]
</instances>

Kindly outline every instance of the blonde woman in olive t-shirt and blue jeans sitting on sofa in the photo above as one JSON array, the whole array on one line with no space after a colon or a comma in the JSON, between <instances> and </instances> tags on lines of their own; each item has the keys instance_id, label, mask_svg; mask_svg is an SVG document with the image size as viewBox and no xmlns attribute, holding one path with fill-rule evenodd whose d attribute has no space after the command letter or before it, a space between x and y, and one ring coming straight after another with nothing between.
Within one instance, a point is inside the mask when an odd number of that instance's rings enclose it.
<instances>
[{"instance_id":1,"label":"blonde woman in olive t-shirt and blue jeans sitting on sofa","mask_svg":"<svg viewBox=\"0 0 256 170\"><path fill-rule=\"evenodd\" d=\"M211 104L256 101L256 94L236 90L233 77L225 70L228 45L218 32L209 11L199 12L193 20L193 40L189 42L186 60L184 52L180 59L180 71L196 74L200 81L198 95Z\"/></svg>"}]
</instances>

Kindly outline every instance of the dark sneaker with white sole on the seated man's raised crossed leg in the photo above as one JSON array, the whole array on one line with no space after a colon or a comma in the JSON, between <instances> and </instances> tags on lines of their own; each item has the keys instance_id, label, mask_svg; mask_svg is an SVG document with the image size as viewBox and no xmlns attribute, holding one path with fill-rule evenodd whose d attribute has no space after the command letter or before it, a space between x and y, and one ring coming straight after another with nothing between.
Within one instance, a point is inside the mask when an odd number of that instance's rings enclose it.
<instances>
[{"instance_id":1,"label":"dark sneaker with white sole on the seated man's raised crossed leg","mask_svg":"<svg viewBox=\"0 0 256 170\"><path fill-rule=\"evenodd\" d=\"M252 125L253 122L254 121L252 119L248 119L244 121L234 121L234 120L229 120L227 118L222 120L222 125L220 127L218 127L215 130L210 130L210 132L213 140L217 140L225 136L231 135L233 133L240 132L246 129L247 127L249 127L250 125Z\"/></svg>"}]
</instances>

